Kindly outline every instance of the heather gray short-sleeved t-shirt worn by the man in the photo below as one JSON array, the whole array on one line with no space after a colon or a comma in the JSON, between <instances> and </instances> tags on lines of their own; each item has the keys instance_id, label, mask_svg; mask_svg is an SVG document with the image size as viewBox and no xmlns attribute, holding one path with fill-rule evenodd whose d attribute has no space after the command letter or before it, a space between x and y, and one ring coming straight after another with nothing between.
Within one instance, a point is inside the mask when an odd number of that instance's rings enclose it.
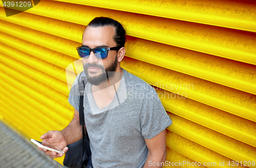
<instances>
[{"instance_id":1,"label":"heather gray short-sleeved t-shirt worn by the man","mask_svg":"<svg viewBox=\"0 0 256 168\"><path fill-rule=\"evenodd\" d=\"M91 87L87 83L83 107L93 166L143 167L148 154L144 139L153 138L172 124L156 90L123 69L115 98L110 105L99 109ZM69 103L77 111L78 95L76 79Z\"/></svg>"}]
</instances>

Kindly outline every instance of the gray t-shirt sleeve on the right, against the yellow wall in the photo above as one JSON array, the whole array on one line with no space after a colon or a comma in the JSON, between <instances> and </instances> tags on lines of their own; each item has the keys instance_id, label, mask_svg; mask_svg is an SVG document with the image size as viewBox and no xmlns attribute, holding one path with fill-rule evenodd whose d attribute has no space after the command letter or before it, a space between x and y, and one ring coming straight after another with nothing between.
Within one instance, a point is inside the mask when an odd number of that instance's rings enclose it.
<instances>
[{"instance_id":1,"label":"gray t-shirt sleeve on the right, against the yellow wall","mask_svg":"<svg viewBox=\"0 0 256 168\"><path fill-rule=\"evenodd\" d=\"M147 92L141 104L141 133L145 139L151 139L172 124L155 89Z\"/></svg>"}]
</instances>

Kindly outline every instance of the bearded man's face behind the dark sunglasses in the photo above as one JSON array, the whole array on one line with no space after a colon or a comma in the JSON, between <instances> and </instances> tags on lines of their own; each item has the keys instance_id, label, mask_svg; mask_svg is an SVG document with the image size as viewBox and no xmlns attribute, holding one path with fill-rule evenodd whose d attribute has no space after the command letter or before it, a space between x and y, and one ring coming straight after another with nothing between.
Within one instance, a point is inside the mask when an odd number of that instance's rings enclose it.
<instances>
[{"instance_id":1,"label":"bearded man's face behind the dark sunglasses","mask_svg":"<svg viewBox=\"0 0 256 168\"><path fill-rule=\"evenodd\" d=\"M113 27L87 27L82 37L82 45L94 49L96 47L114 47L113 39L115 29ZM83 59L84 73L88 82L92 85L99 85L107 80L106 72L115 71L117 67L117 51L109 51L108 57L98 59L91 52L88 58ZM114 73L109 73L108 77Z\"/></svg>"}]
</instances>

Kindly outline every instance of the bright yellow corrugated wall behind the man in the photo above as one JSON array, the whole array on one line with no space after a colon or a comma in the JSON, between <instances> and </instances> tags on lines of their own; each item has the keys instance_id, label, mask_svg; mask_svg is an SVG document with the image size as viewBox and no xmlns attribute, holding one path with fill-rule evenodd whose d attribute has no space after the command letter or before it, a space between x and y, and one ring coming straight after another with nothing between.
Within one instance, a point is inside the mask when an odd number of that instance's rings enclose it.
<instances>
[{"instance_id":1,"label":"bright yellow corrugated wall behind the man","mask_svg":"<svg viewBox=\"0 0 256 168\"><path fill-rule=\"evenodd\" d=\"M26 138L69 124L65 69L89 21L109 16L127 32L121 66L173 120L166 161L256 167L255 1L44 0L9 17L0 6L0 118Z\"/></svg>"}]
</instances>

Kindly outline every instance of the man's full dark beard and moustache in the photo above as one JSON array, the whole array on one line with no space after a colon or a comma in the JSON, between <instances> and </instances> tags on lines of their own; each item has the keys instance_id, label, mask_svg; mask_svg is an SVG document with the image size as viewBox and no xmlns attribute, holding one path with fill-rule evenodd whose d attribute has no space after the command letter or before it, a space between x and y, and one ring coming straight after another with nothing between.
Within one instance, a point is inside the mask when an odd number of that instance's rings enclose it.
<instances>
[{"instance_id":1,"label":"man's full dark beard and moustache","mask_svg":"<svg viewBox=\"0 0 256 168\"><path fill-rule=\"evenodd\" d=\"M102 71L102 74L90 77L88 73L88 67L100 68ZM114 77L115 73L111 73L111 72L116 71L116 67L117 67L117 55L116 55L115 61L106 68L104 68L103 65L99 65L96 63L95 64L87 63L83 66L83 70L84 70L84 73L86 74L88 82L92 85L99 86L102 82L105 82L108 79L111 79Z\"/></svg>"}]
</instances>

